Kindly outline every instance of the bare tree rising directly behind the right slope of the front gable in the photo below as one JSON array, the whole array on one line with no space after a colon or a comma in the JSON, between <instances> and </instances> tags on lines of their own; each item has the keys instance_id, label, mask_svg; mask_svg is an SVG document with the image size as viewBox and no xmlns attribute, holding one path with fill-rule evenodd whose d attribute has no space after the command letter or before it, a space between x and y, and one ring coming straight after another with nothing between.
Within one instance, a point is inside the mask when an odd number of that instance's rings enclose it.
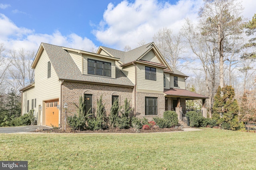
<instances>
[{"instance_id":1,"label":"bare tree rising directly behind the right slope of the front gable","mask_svg":"<svg viewBox=\"0 0 256 170\"><path fill-rule=\"evenodd\" d=\"M171 29L164 27L153 36L153 41L170 66L177 68L179 61L184 59L182 54L185 53L181 34L174 35Z\"/></svg>"}]
</instances>

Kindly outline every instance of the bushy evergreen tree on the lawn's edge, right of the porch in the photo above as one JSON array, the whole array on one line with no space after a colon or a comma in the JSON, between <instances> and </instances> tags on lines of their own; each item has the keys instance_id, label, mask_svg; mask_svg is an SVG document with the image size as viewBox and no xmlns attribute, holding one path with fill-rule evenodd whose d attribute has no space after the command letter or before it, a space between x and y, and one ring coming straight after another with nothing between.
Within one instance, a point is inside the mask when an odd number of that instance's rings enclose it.
<instances>
[{"instance_id":1,"label":"bushy evergreen tree on the lawn's edge, right of the porch","mask_svg":"<svg viewBox=\"0 0 256 170\"><path fill-rule=\"evenodd\" d=\"M226 126L231 130L240 129L238 121L239 106L236 101L234 88L232 86L218 87L214 96L213 119L216 119L220 126Z\"/></svg>"}]
</instances>

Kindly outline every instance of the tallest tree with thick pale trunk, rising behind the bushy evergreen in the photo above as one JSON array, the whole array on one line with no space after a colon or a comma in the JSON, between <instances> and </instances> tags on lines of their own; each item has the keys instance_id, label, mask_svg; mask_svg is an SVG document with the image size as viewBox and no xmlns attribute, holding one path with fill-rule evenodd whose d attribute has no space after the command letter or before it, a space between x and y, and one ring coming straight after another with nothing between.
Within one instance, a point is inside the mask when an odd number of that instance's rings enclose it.
<instances>
[{"instance_id":1,"label":"tallest tree with thick pale trunk, rising behind the bushy evergreen","mask_svg":"<svg viewBox=\"0 0 256 170\"><path fill-rule=\"evenodd\" d=\"M206 34L208 41L217 43L219 54L220 87L224 87L224 54L225 45L230 45L230 37L239 37L242 33L242 6L235 0L204 0L199 11L200 29Z\"/></svg>"}]
</instances>

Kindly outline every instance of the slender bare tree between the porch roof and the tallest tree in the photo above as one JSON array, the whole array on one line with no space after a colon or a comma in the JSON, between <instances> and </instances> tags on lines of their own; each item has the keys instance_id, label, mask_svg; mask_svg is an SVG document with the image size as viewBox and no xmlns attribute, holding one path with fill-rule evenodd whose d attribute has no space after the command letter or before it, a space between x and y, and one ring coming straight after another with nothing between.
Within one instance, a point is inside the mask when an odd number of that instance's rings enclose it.
<instances>
[{"instance_id":1,"label":"slender bare tree between the porch roof and the tallest tree","mask_svg":"<svg viewBox=\"0 0 256 170\"><path fill-rule=\"evenodd\" d=\"M212 115L213 100L216 94L216 59L218 50L216 43L207 40L207 36L200 32L198 27L195 27L188 19L182 28L182 34L186 39L188 48L192 50L195 55L194 59L191 59L191 63L195 62L201 65L201 67L195 69L204 72L206 92L209 96L209 116ZM199 62L198 62L199 60Z\"/></svg>"}]
</instances>

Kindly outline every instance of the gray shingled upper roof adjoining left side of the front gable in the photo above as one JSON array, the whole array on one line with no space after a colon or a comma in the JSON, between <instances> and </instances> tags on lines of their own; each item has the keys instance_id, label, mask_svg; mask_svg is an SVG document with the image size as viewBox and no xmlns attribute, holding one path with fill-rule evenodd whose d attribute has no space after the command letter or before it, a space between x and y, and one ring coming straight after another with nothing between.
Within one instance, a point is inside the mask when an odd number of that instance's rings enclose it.
<instances>
[{"instance_id":1,"label":"gray shingled upper roof adjoining left side of the front gable","mask_svg":"<svg viewBox=\"0 0 256 170\"><path fill-rule=\"evenodd\" d=\"M140 58L148 49L150 49L151 46L149 46L152 43L148 43L146 45L143 45L141 47L138 47L136 49L133 49L131 51L119 51L115 49L110 49L108 47L102 47L102 49L108 51L111 55L113 55L116 58L120 58L120 61L122 63L129 63L131 61L136 61L138 58Z\"/></svg>"}]
</instances>

